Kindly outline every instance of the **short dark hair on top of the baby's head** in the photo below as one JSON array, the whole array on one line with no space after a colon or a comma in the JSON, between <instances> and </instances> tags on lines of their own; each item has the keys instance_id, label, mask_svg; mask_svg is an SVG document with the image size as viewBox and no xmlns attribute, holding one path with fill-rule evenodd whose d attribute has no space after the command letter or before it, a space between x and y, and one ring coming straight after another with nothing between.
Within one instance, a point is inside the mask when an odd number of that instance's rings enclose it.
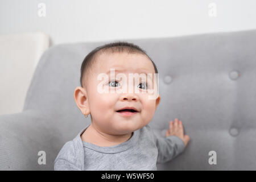
<instances>
[{"instance_id":1,"label":"short dark hair on top of the baby's head","mask_svg":"<svg viewBox=\"0 0 256 182\"><path fill-rule=\"evenodd\" d=\"M127 53L141 53L145 56L148 57L148 59L151 60L151 58L147 55L146 51L144 51L142 48L139 46L133 44L133 43L128 43L128 42L113 42L109 44L105 44L104 46L97 47L93 49L91 52L86 55L84 61L82 61L81 64L81 75L80 75L80 85L82 85L82 80L84 77L84 73L88 75L90 73L90 68L92 68L92 65L94 61L96 60L96 56L100 52L127 52ZM154 61L152 61L152 64L154 65L155 68L155 73L158 73L158 69L156 68L156 65Z\"/></svg>"}]
</instances>

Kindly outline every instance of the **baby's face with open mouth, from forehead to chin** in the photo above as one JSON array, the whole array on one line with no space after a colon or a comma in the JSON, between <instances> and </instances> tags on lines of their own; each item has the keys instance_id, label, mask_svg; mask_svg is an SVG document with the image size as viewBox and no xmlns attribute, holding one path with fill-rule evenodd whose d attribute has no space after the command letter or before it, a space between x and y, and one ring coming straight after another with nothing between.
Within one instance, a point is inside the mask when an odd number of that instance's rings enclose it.
<instances>
[{"instance_id":1,"label":"baby's face with open mouth, from forehead to chin","mask_svg":"<svg viewBox=\"0 0 256 182\"><path fill-rule=\"evenodd\" d=\"M151 73L152 82L148 83L148 87L155 87L155 69L150 59L139 53L101 53L97 57L95 71L89 80L86 80L88 86L86 90L88 98L88 107L93 117L93 124L101 131L108 134L127 134L146 126L154 116L156 107L159 104L160 96L156 99L150 99L149 93L142 92L147 90L146 82L140 78L139 84L129 83L129 73ZM110 69L115 69L114 80L110 80ZM98 79L99 75L105 73L108 80ZM118 73L126 75L127 81L117 78ZM103 81L102 81L103 80ZM143 82L142 84L140 84ZM103 83L103 84L102 84ZM102 84L109 92L99 92L98 86ZM125 93L118 93L124 86L127 86ZM129 89L133 88L133 92L129 93ZM113 93L110 91L112 90ZM137 90L137 92L135 92ZM123 107L135 107L137 113L124 114L117 112Z\"/></svg>"}]
</instances>

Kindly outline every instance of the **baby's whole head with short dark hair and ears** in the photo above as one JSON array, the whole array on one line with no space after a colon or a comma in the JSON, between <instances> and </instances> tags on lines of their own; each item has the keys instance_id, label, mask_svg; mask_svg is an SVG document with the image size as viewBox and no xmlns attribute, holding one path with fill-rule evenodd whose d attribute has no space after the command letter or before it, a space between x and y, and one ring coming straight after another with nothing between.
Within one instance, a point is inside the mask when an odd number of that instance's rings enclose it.
<instances>
[{"instance_id":1,"label":"baby's whole head with short dark hair and ears","mask_svg":"<svg viewBox=\"0 0 256 182\"><path fill-rule=\"evenodd\" d=\"M91 51L82 62L80 84L74 93L77 106L107 134L127 134L146 126L160 102L159 94L152 99L148 92L158 93L158 70L146 52L131 43L110 43ZM124 107L137 112L118 111Z\"/></svg>"}]
</instances>

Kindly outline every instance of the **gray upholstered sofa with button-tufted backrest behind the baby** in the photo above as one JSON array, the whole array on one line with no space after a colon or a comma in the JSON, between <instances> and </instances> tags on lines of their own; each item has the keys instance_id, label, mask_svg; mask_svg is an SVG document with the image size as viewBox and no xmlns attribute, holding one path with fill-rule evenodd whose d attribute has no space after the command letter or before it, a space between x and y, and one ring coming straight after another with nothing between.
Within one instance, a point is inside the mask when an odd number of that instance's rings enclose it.
<instances>
[{"instance_id":1,"label":"gray upholstered sofa with button-tufted backrest behind the baby","mask_svg":"<svg viewBox=\"0 0 256 182\"><path fill-rule=\"evenodd\" d=\"M256 30L127 41L145 49L159 70L162 100L149 125L164 136L168 122L179 118L191 137L183 153L158 169L255 170ZM22 113L0 116L1 170L53 169L60 148L90 122L73 93L82 60L104 43L44 52ZM46 164L38 164L39 151ZM209 164L210 151L217 164Z\"/></svg>"}]
</instances>

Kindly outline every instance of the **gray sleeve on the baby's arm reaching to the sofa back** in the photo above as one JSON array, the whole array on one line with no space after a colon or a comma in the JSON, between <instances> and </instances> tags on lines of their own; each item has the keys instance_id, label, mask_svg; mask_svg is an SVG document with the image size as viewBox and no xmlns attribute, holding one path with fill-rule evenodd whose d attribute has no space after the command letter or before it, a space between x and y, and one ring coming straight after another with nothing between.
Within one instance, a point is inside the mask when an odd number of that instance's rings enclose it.
<instances>
[{"instance_id":1,"label":"gray sleeve on the baby's arm reaching to the sofa back","mask_svg":"<svg viewBox=\"0 0 256 182\"><path fill-rule=\"evenodd\" d=\"M158 148L158 159L156 164L166 163L174 159L184 151L185 144L179 137L171 135L163 137L160 130L152 129L156 147Z\"/></svg>"}]
</instances>

